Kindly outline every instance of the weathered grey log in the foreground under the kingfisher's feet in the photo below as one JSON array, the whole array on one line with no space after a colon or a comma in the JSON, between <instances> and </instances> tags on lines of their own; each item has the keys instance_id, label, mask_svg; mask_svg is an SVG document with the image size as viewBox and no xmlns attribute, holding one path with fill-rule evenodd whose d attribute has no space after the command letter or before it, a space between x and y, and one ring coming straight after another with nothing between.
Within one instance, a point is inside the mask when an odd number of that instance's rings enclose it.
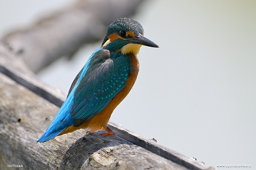
<instances>
[{"instance_id":1,"label":"weathered grey log in the foreground under the kingfisher's feet","mask_svg":"<svg viewBox=\"0 0 256 170\"><path fill-rule=\"evenodd\" d=\"M8 66L8 62L3 62L6 57L0 54L0 70L23 82L22 71L18 68L10 71L2 65ZM29 77L32 74L26 78ZM113 124L110 126L116 136L100 136L101 131L85 135L84 130L77 130L46 143L36 143L58 112L58 107L26 88L36 87L38 82L33 84L32 79L25 82L20 85L0 74L0 169L8 170L12 164L22 165L28 170L212 169ZM46 86L37 89L40 88Z\"/></svg>"}]
</instances>

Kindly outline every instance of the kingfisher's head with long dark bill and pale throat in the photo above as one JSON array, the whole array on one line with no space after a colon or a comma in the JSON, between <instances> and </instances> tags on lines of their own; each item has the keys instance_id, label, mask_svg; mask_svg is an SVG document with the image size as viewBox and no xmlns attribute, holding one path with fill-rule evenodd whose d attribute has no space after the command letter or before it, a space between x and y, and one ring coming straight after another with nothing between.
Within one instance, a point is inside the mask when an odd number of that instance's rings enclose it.
<instances>
[{"instance_id":1,"label":"kingfisher's head with long dark bill and pale throat","mask_svg":"<svg viewBox=\"0 0 256 170\"><path fill-rule=\"evenodd\" d=\"M137 54L142 45L159 48L143 35L144 30L140 23L130 18L120 18L108 26L102 47L110 51L121 51L122 54Z\"/></svg>"}]
</instances>

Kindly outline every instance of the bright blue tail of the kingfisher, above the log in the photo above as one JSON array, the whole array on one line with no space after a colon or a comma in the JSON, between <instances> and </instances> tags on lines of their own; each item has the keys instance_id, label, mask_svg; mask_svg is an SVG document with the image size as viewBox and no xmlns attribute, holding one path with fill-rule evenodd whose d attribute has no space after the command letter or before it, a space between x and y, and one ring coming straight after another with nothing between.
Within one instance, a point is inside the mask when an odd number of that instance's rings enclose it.
<instances>
[{"instance_id":1,"label":"bright blue tail of the kingfisher, above the log","mask_svg":"<svg viewBox=\"0 0 256 170\"><path fill-rule=\"evenodd\" d=\"M60 111L57 113L55 118L52 120L51 125L47 128L44 134L38 139L37 142L43 143L49 141L58 134L60 134L64 129L73 125L76 119L73 119L70 114L61 114Z\"/></svg>"}]
</instances>

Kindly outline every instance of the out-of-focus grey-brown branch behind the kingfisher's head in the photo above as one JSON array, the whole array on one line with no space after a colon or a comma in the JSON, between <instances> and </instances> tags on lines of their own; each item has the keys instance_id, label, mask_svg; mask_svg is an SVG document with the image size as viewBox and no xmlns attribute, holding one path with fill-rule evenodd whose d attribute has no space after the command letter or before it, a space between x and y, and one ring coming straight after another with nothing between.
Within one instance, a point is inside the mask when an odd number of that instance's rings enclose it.
<instances>
[{"instance_id":1,"label":"out-of-focus grey-brown branch behind the kingfisher's head","mask_svg":"<svg viewBox=\"0 0 256 170\"><path fill-rule=\"evenodd\" d=\"M1 41L38 72L59 57L72 57L81 45L101 40L113 20L131 16L142 1L78 0Z\"/></svg>"}]
</instances>

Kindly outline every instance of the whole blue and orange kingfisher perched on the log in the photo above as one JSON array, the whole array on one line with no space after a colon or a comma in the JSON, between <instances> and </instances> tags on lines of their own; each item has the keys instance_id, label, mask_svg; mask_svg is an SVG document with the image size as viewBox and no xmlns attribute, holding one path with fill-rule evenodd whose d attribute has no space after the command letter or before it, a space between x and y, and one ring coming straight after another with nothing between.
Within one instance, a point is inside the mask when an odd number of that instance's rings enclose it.
<instances>
[{"instance_id":1,"label":"whole blue and orange kingfisher perched on the log","mask_svg":"<svg viewBox=\"0 0 256 170\"><path fill-rule=\"evenodd\" d=\"M108 121L114 109L128 95L137 79L137 54L142 45L159 48L144 37L143 27L130 18L119 18L73 80L67 99L37 142L85 129L87 133L114 135Z\"/></svg>"}]
</instances>

